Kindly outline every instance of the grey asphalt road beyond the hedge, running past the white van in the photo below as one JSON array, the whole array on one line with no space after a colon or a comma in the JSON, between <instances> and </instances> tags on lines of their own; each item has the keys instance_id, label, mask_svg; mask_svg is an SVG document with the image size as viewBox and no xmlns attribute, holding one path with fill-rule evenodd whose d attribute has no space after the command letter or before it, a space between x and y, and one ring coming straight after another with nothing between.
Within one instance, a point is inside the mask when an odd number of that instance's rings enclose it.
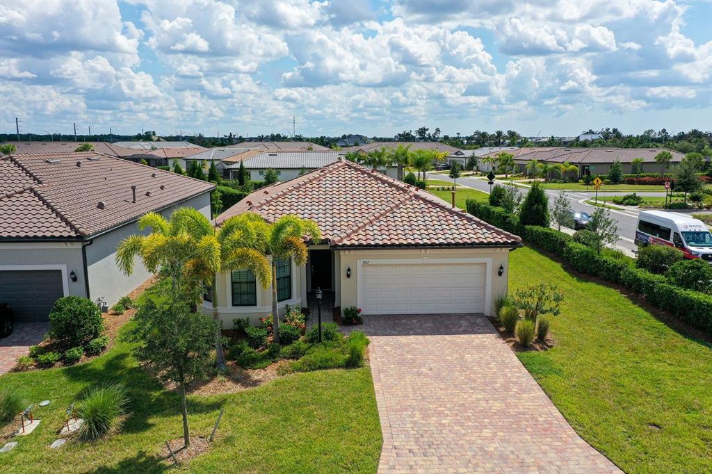
<instances>
[{"instance_id":1,"label":"grey asphalt road beyond the hedge, running past the white van","mask_svg":"<svg viewBox=\"0 0 712 474\"><path fill-rule=\"evenodd\" d=\"M446 174L428 174L427 175L428 179L441 179L443 181L452 181ZM467 186L468 188L474 188L478 189L479 191L485 191L486 193L489 193L490 191L490 186L487 184L487 181L484 181L483 179L476 179L476 178L459 178L457 180L457 184L460 186ZM497 181L497 184L502 184L502 185L507 185L506 181ZM526 189L524 188L516 188L518 191L521 193L525 194ZM547 189L546 194L549 196L549 203L552 204L554 199L556 199L557 195L559 194L558 190L555 189ZM617 194L629 194L629 193L622 193L622 192L599 192L599 196L614 196ZM638 193L639 196L664 196L664 193ZM584 204L584 201L587 201L588 199L593 199L595 196L595 193L592 192L585 192L585 191L565 191L565 196L567 199L570 199L571 201L571 207L575 211L583 211L588 214L593 214L593 211L596 210L595 206L590 206L589 204ZM633 242L633 238L635 237L635 229L638 224L638 211L633 211L633 210L624 210L624 211L615 211L613 209L611 211L611 217L615 218L618 221L618 242L617 246L619 248L622 248L623 251L626 253L630 254L632 251L637 250L637 247L635 246L635 243Z\"/></svg>"}]
</instances>

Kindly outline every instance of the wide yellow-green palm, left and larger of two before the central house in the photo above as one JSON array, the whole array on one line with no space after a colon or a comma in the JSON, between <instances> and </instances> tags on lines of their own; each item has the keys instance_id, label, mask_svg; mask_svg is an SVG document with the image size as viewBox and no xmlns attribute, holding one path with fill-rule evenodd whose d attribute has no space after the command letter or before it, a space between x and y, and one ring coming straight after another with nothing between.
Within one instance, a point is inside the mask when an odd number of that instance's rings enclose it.
<instances>
[{"instance_id":1,"label":"wide yellow-green palm, left and larger of two before the central house","mask_svg":"<svg viewBox=\"0 0 712 474\"><path fill-rule=\"evenodd\" d=\"M256 214L229 218L215 228L206 216L191 207L176 209L169 219L150 212L138 221L147 236L135 234L117 246L116 263L130 275L134 259L140 258L147 270L170 280L169 297L186 301L195 311L206 287L215 290L215 274L246 268L268 288L271 282L269 260L259 250ZM259 216L256 216L259 218ZM261 219L261 218L260 218ZM213 317L219 319L217 297L212 297ZM221 334L216 337L218 367L224 368Z\"/></svg>"}]
</instances>

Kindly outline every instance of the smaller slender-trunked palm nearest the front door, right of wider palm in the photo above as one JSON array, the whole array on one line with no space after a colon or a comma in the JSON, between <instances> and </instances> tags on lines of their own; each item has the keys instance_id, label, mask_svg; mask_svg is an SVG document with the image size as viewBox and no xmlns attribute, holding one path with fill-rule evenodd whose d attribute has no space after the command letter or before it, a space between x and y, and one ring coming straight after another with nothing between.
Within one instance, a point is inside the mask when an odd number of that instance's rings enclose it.
<instances>
[{"instance_id":1,"label":"smaller slender-trunked palm nearest the front door, right of wider palm","mask_svg":"<svg viewBox=\"0 0 712 474\"><path fill-rule=\"evenodd\" d=\"M293 258L297 266L305 265L309 255L305 238L317 243L321 240L321 232L314 221L292 215L282 216L274 223L263 221L256 228L262 250L272 260L272 327L274 342L279 343L277 260Z\"/></svg>"}]
</instances>

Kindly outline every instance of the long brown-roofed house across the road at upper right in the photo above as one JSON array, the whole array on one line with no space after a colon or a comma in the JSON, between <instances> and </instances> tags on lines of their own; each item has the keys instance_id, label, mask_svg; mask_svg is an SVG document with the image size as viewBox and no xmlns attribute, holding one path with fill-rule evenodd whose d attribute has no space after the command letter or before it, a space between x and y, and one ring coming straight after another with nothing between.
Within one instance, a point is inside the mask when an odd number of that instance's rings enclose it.
<instances>
[{"instance_id":1,"label":"long brown-roofed house across the road at upper right","mask_svg":"<svg viewBox=\"0 0 712 474\"><path fill-rule=\"evenodd\" d=\"M569 162L579 168L579 177L581 177L589 170L591 174L608 174L616 160L623 165L624 174L631 174L633 159L642 158L643 173L659 173L660 165L655 162L655 156L663 150L662 148L523 148L515 156L514 161L518 164L520 172L524 171L531 159L549 164ZM668 151L673 157L669 168L672 169L685 155Z\"/></svg>"}]
</instances>

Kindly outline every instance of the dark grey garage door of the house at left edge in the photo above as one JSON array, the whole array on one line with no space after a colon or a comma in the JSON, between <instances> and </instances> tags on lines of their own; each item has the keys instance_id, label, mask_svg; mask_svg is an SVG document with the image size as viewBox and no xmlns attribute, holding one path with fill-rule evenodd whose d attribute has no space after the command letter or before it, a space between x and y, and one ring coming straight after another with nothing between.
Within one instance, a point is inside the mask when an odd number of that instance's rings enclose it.
<instances>
[{"instance_id":1,"label":"dark grey garage door of the house at left edge","mask_svg":"<svg viewBox=\"0 0 712 474\"><path fill-rule=\"evenodd\" d=\"M48 321L63 297L61 270L0 270L0 303L8 303L15 322Z\"/></svg>"}]
</instances>

